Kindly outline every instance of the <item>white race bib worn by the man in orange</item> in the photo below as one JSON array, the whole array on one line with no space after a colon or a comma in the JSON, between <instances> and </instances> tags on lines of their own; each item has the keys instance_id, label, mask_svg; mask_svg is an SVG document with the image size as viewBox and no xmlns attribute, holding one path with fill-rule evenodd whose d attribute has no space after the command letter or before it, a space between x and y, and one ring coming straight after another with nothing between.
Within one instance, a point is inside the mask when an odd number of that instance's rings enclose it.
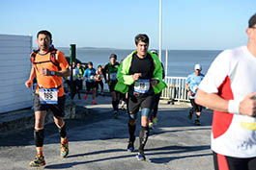
<instances>
[{"instance_id":1,"label":"white race bib worn by the man in orange","mask_svg":"<svg viewBox=\"0 0 256 170\"><path fill-rule=\"evenodd\" d=\"M56 105L58 104L58 89L39 88L39 97L41 104Z\"/></svg>"}]
</instances>

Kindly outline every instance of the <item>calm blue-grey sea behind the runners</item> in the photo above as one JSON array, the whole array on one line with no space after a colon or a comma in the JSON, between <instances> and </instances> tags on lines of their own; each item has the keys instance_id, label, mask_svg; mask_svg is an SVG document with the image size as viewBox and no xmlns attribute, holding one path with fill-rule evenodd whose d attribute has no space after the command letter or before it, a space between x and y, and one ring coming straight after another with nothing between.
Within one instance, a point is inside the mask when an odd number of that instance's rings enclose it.
<instances>
[{"instance_id":1,"label":"calm blue-grey sea behind the runners","mask_svg":"<svg viewBox=\"0 0 256 170\"><path fill-rule=\"evenodd\" d=\"M70 48L60 47L66 57L70 56ZM117 55L117 61L125 59L134 49L109 49L109 48L76 48L76 59L82 62L92 61L94 67L105 65L109 61L110 54ZM186 77L194 71L194 65L202 65L202 73L206 74L220 50L168 50L166 76ZM166 70L166 50L162 50L161 61Z\"/></svg>"}]
</instances>

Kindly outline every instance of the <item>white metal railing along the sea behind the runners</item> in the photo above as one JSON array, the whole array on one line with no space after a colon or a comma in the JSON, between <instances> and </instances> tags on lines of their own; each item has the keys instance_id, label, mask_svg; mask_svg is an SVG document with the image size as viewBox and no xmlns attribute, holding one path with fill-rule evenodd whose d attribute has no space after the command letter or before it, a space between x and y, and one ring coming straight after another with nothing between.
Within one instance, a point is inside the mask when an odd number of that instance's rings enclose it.
<instances>
[{"instance_id":1,"label":"white metal railing along the sea behind the runners","mask_svg":"<svg viewBox=\"0 0 256 170\"><path fill-rule=\"evenodd\" d=\"M185 80L185 77L165 77L164 82L167 87L162 90L161 98L188 102Z\"/></svg>"}]
</instances>

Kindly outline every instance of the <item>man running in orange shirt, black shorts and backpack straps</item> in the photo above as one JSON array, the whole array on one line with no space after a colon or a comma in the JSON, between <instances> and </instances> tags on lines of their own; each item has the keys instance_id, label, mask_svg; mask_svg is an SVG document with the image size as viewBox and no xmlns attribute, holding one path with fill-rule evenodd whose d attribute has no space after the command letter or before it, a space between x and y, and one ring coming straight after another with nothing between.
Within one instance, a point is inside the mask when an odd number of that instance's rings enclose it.
<instances>
[{"instance_id":1,"label":"man running in orange shirt, black shorts and backpack straps","mask_svg":"<svg viewBox=\"0 0 256 170\"><path fill-rule=\"evenodd\" d=\"M51 109L56 126L61 136L61 157L69 155L69 143L67 138L66 125L63 120L65 110L65 96L62 85L62 77L71 75L69 63L62 52L50 47L52 43L51 34L48 31L40 31L37 35L39 50L31 54L33 63L30 77L25 83L31 87L34 78L37 79L38 86L34 98L35 110L35 144L37 156L30 162L31 167L45 165L43 157L43 128L46 111Z\"/></svg>"}]
</instances>

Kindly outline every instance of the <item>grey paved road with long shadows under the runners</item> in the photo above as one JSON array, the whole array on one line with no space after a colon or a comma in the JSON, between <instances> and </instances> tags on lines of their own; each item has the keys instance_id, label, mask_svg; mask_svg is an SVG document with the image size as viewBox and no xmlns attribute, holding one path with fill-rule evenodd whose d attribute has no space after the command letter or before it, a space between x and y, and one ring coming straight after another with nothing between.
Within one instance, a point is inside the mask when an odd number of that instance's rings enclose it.
<instances>
[{"instance_id":1,"label":"grey paved road with long shadows under the runners","mask_svg":"<svg viewBox=\"0 0 256 170\"><path fill-rule=\"evenodd\" d=\"M70 156L59 157L59 134L53 124L45 127L44 169L86 170L213 170L210 150L212 111L204 110L202 126L194 126L186 117L185 106L160 104L159 122L151 131L146 146L146 161L138 161L136 153L128 153L128 116L121 111L114 119L110 98L99 97L99 105L75 100L80 107L90 109L83 120L68 120ZM136 135L138 136L139 127ZM135 141L138 147L138 137ZM0 138L0 169L29 168L35 157L33 130L21 131ZM39 168L42 169L42 168Z\"/></svg>"}]
</instances>

